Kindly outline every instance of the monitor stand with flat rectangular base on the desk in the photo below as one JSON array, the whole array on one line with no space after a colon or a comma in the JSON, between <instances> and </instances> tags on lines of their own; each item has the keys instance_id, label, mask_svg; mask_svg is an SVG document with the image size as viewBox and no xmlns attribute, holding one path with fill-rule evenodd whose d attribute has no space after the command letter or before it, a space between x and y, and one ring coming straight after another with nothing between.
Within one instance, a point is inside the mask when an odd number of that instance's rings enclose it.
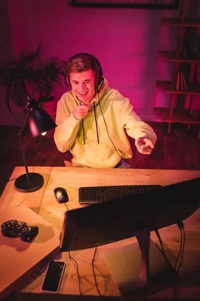
<instances>
[{"instance_id":1,"label":"monitor stand with flat rectangular base on the desk","mask_svg":"<svg viewBox=\"0 0 200 301\"><path fill-rule=\"evenodd\" d=\"M152 284L174 272L150 239L150 229L135 233L137 242L102 253L103 259L122 295Z\"/></svg>"}]
</instances>

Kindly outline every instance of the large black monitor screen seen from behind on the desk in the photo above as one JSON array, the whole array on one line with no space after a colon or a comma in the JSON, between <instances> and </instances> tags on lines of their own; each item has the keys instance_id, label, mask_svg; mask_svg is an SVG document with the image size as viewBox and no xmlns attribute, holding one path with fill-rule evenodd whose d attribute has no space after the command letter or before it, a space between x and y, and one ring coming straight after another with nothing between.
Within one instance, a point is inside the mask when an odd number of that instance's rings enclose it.
<instances>
[{"instance_id":1,"label":"large black monitor screen seen from behind on the desk","mask_svg":"<svg viewBox=\"0 0 200 301\"><path fill-rule=\"evenodd\" d=\"M199 207L200 178L65 213L60 251L99 246L183 221Z\"/></svg>"}]
</instances>

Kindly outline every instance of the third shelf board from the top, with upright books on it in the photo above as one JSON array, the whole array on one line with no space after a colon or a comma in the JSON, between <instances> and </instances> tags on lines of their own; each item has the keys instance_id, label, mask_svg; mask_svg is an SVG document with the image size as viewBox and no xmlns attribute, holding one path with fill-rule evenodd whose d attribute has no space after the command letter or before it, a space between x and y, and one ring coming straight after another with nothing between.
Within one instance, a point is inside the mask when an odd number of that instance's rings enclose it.
<instances>
[{"instance_id":1,"label":"third shelf board from the top, with upright books on it","mask_svg":"<svg viewBox=\"0 0 200 301\"><path fill-rule=\"evenodd\" d=\"M176 90L174 88L172 81L167 81L167 80L157 80L156 86L164 89L165 93L168 94L200 94L199 82L195 82L195 83L187 82L186 90L180 90L180 89Z\"/></svg>"}]
</instances>

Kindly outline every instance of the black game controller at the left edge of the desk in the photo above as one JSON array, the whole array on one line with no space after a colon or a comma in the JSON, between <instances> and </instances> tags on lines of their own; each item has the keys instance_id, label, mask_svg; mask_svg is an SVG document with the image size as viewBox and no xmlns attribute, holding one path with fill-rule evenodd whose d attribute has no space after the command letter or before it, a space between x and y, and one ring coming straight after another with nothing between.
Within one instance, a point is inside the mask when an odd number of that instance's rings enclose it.
<instances>
[{"instance_id":1,"label":"black game controller at the left edge of the desk","mask_svg":"<svg viewBox=\"0 0 200 301\"><path fill-rule=\"evenodd\" d=\"M38 227L29 227L24 222L9 220L1 225L1 234L6 237L20 237L23 241L31 241L38 233Z\"/></svg>"}]
</instances>

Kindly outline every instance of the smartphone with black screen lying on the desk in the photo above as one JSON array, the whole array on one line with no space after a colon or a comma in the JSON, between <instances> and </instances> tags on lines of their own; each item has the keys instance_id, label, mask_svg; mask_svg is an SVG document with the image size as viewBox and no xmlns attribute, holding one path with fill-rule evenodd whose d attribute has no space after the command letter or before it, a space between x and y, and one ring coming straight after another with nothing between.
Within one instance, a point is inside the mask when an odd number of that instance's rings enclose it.
<instances>
[{"instance_id":1,"label":"smartphone with black screen lying on the desk","mask_svg":"<svg viewBox=\"0 0 200 301\"><path fill-rule=\"evenodd\" d=\"M57 293L64 273L65 262L50 260L41 284L42 292Z\"/></svg>"}]
</instances>

